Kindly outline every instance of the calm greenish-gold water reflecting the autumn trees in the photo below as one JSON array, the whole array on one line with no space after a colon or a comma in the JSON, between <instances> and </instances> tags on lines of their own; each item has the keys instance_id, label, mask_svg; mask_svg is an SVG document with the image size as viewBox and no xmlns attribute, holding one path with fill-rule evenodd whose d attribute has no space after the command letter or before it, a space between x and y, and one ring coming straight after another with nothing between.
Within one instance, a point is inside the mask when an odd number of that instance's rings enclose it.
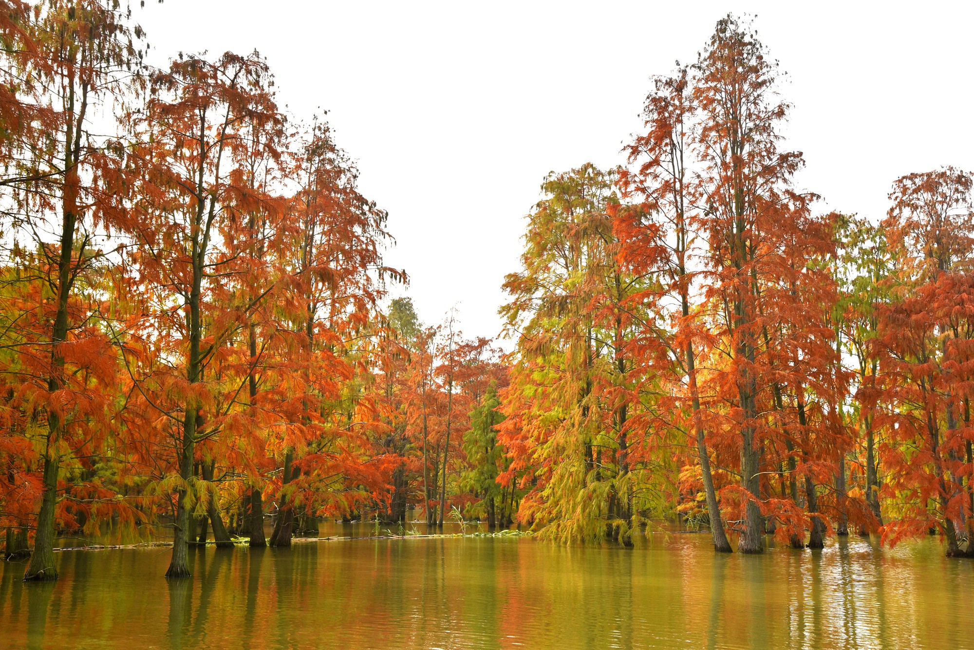
<instances>
[{"instance_id":1,"label":"calm greenish-gold water reflecting the autumn trees","mask_svg":"<svg viewBox=\"0 0 974 650\"><path fill-rule=\"evenodd\" d=\"M56 584L0 562L3 648L974 648L974 561L935 540L716 556L530 538L64 551Z\"/></svg>"}]
</instances>

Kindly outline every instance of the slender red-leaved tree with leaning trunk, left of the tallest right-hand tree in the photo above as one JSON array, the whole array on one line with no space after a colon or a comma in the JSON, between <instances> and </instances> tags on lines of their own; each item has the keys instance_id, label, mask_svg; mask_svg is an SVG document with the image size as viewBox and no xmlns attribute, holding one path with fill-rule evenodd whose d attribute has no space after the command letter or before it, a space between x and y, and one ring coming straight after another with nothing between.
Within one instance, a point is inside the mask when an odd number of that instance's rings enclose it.
<instances>
[{"instance_id":1,"label":"slender red-leaved tree with leaning trunk, left of the tallest right-hand tree","mask_svg":"<svg viewBox=\"0 0 974 650\"><path fill-rule=\"evenodd\" d=\"M620 209L616 230L623 245L620 256L636 272L652 273L657 281L634 301L652 301L665 309L673 300L677 309L671 324L647 327L636 343L643 348L649 363L661 366L662 374L675 375L671 381L682 388L683 402L689 409L673 405L666 415L691 413L691 428L700 463L707 515L714 549L731 552L731 542L714 488L710 451L707 449L700 414L697 359L694 347L700 337L699 314L692 309L696 275L692 256L701 254L693 228L693 176L690 129L693 127L693 104L687 68L674 77L659 77L655 90L647 97L643 110L647 132L628 145L627 154L634 169L622 173L620 181L624 198L639 201L629 209ZM661 362L661 363L659 363ZM671 422L673 426L676 423Z\"/></svg>"}]
</instances>

